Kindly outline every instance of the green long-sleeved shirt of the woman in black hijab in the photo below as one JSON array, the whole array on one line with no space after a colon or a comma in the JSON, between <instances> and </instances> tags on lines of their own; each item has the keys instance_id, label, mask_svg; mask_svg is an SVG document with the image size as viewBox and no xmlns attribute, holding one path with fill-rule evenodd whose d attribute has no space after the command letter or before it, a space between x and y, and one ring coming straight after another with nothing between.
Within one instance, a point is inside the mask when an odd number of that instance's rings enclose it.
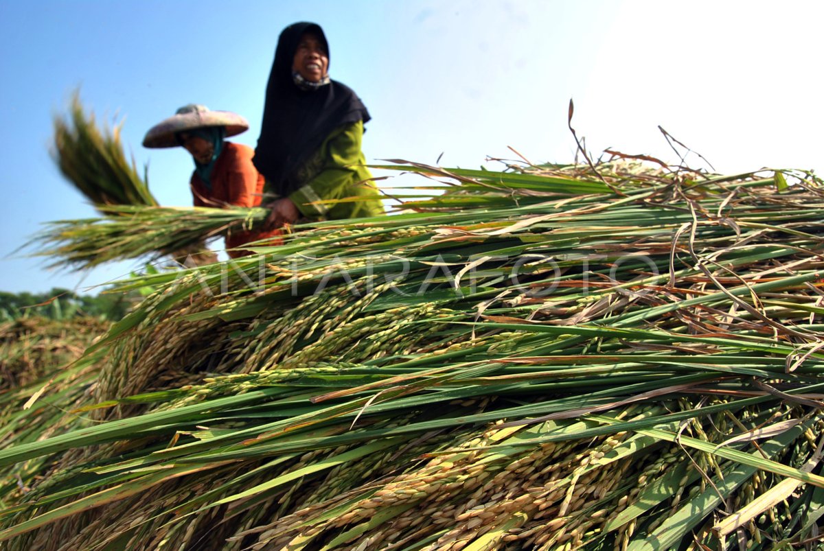
<instances>
[{"instance_id":1,"label":"green long-sleeved shirt of the woman in black hijab","mask_svg":"<svg viewBox=\"0 0 824 551\"><path fill-rule=\"evenodd\" d=\"M293 178L302 185L289 198L304 217L339 220L384 212L381 196L361 152L363 121L335 128ZM361 198L336 204L330 199ZM364 200L365 199L365 200Z\"/></svg>"}]
</instances>

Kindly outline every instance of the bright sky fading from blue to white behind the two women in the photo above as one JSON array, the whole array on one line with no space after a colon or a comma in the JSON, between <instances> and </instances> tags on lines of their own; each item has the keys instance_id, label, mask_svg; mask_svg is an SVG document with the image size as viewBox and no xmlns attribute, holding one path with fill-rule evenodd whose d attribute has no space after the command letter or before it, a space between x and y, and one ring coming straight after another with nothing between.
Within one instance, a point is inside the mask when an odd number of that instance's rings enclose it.
<instances>
[{"instance_id":1,"label":"bright sky fading from blue to white behind the two women","mask_svg":"<svg viewBox=\"0 0 824 551\"><path fill-rule=\"evenodd\" d=\"M330 74L372 114L369 161L443 166L512 158L569 162L574 127L588 148L677 161L662 125L724 173L762 166L824 171L818 73L820 2L173 2L0 0L0 291L89 288L119 263L46 271L13 251L44 222L94 216L49 158L51 119L81 86L123 139L164 205L191 203L190 157L140 146L190 102L250 121L255 145L280 30L316 21ZM693 156L691 161L700 166ZM93 292L93 290L92 290Z\"/></svg>"}]
</instances>

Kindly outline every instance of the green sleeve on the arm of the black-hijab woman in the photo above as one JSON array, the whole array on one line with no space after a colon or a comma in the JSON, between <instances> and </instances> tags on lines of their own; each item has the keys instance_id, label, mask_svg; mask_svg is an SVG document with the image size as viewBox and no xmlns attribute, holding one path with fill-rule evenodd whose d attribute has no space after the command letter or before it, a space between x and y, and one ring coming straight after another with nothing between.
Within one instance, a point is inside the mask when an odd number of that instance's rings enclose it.
<instances>
[{"instance_id":1,"label":"green sleeve on the arm of the black-hijab woman","mask_svg":"<svg viewBox=\"0 0 824 551\"><path fill-rule=\"evenodd\" d=\"M354 186L369 177L361 152L363 121L344 124L321 144L321 170L307 184L289 195L305 217L325 217L333 205L317 203L347 197Z\"/></svg>"}]
</instances>

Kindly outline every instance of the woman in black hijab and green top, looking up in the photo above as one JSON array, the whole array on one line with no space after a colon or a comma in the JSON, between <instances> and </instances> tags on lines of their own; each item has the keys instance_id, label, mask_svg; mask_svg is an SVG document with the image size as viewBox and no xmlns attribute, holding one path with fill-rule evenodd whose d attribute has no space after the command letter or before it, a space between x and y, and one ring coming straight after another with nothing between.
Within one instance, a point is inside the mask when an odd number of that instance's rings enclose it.
<instances>
[{"instance_id":1,"label":"woman in black hijab and green top, looking up","mask_svg":"<svg viewBox=\"0 0 824 551\"><path fill-rule=\"evenodd\" d=\"M320 26L294 23L274 54L253 162L265 176L269 226L298 218L369 217L383 212L361 152L366 107L329 77L329 44ZM334 199L358 198L344 203Z\"/></svg>"}]
</instances>

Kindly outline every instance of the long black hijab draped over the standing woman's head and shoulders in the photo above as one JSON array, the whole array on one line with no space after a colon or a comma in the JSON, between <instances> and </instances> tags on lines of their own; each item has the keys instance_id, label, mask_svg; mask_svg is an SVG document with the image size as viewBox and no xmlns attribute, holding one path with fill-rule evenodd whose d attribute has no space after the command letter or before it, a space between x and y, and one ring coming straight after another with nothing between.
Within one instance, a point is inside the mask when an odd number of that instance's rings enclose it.
<instances>
[{"instance_id":1,"label":"long black hijab draped over the standing woman's head and shoulders","mask_svg":"<svg viewBox=\"0 0 824 551\"><path fill-rule=\"evenodd\" d=\"M292 63L302 36L313 33L326 47L329 43L315 23L293 23L283 29L274 53L260 138L252 160L262 175L274 184L275 193L285 196L302 183L293 173L316 152L329 133L341 124L370 119L360 98L344 84L331 81L316 90L299 89L292 77Z\"/></svg>"}]
</instances>

